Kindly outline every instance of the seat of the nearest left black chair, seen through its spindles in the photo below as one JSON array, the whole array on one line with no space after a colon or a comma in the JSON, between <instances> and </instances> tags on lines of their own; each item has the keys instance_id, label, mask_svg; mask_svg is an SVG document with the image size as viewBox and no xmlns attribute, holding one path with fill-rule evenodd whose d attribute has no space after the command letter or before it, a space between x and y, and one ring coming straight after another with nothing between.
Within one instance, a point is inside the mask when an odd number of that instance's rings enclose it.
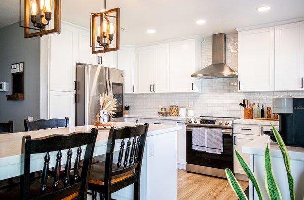
<instances>
[{"instance_id":1,"label":"seat of the nearest left black chair, seen through its spindles","mask_svg":"<svg viewBox=\"0 0 304 200\"><path fill-rule=\"evenodd\" d=\"M35 179L31 181L30 183L30 197L34 198L35 196L38 196L41 194L40 192L40 184L41 184L41 179ZM48 182L47 182L47 188L46 192L53 192L54 189L52 187L53 184L53 178L49 177ZM63 182L61 180L58 181L58 189L62 189L64 187ZM67 196L62 196L60 199L74 199L78 196L78 192L67 195ZM20 184L9 187L7 189L0 190L0 199L20 199Z\"/></svg>"}]
</instances>

